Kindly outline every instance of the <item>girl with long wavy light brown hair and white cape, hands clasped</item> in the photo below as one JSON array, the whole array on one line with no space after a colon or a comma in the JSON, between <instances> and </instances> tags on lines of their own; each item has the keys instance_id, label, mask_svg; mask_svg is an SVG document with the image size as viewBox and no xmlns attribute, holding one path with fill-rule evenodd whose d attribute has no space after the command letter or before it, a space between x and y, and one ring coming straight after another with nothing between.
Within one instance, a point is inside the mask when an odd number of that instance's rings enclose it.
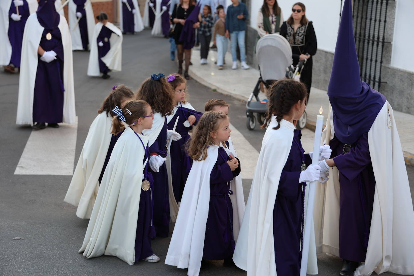
<instances>
[{"instance_id":1,"label":"girl with long wavy light brown hair and white cape, hands clasped","mask_svg":"<svg viewBox=\"0 0 414 276\"><path fill-rule=\"evenodd\" d=\"M206 264L204 259L224 259L224 266L233 265L240 229L233 212L244 209L244 202L233 200L243 193L238 193L242 187L233 181L240 174L239 160L225 144L230 132L226 114L208 111L198 121L188 146L193 166L165 260L166 264L188 268L188 275L198 275Z\"/></svg>"}]
</instances>

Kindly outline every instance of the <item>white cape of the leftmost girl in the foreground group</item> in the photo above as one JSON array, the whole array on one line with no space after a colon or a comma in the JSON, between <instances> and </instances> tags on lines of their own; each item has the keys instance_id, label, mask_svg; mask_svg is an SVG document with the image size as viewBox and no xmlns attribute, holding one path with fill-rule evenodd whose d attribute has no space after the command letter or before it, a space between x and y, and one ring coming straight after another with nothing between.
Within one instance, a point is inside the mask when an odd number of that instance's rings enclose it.
<instances>
[{"instance_id":1,"label":"white cape of the leftmost girl in the foreground group","mask_svg":"<svg viewBox=\"0 0 414 276\"><path fill-rule=\"evenodd\" d=\"M99 176L111 143L112 117L103 112L89 127L64 201L77 206L79 218L90 218L99 189Z\"/></svg>"}]
</instances>

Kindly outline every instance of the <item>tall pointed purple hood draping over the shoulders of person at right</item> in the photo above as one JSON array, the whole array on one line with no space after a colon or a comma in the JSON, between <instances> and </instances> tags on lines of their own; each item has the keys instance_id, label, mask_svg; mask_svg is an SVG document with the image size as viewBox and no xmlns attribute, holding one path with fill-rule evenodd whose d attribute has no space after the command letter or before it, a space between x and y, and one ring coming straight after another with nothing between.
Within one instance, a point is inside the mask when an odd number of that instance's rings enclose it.
<instances>
[{"instance_id":1,"label":"tall pointed purple hood draping over the shoulders of person at right","mask_svg":"<svg viewBox=\"0 0 414 276\"><path fill-rule=\"evenodd\" d=\"M345 0L328 85L335 135L352 144L371 129L385 97L361 82L352 26L351 0Z\"/></svg>"}]
</instances>

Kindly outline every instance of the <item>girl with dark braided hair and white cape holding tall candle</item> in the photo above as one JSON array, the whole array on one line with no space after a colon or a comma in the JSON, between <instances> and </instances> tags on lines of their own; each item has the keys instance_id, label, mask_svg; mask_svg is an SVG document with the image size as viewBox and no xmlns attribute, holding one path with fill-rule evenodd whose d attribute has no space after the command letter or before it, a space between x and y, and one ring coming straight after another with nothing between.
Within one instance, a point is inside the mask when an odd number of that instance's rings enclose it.
<instances>
[{"instance_id":1,"label":"girl with dark braided hair and white cape holding tall candle","mask_svg":"<svg viewBox=\"0 0 414 276\"><path fill-rule=\"evenodd\" d=\"M270 89L262 127L270 124L233 255L248 275L299 275L306 182L321 177L294 126L305 110L306 94L306 86L293 79L279 80ZM329 146L320 147L320 154L329 158Z\"/></svg>"}]
</instances>

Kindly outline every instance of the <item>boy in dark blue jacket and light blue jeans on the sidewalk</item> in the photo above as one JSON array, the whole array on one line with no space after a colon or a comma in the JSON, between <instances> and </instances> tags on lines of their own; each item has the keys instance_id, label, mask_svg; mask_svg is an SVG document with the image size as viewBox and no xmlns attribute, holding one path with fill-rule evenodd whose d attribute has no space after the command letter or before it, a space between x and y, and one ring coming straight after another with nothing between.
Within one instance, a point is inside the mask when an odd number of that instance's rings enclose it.
<instances>
[{"instance_id":1,"label":"boy in dark blue jacket and light blue jeans on the sidewalk","mask_svg":"<svg viewBox=\"0 0 414 276\"><path fill-rule=\"evenodd\" d=\"M237 69L237 44L240 49L241 69L249 69L250 67L246 63L246 46L244 43L246 19L249 14L246 5L238 1L231 0L233 4L227 7L226 14L226 37L230 37L231 55L233 56L233 66L231 69Z\"/></svg>"}]
</instances>

